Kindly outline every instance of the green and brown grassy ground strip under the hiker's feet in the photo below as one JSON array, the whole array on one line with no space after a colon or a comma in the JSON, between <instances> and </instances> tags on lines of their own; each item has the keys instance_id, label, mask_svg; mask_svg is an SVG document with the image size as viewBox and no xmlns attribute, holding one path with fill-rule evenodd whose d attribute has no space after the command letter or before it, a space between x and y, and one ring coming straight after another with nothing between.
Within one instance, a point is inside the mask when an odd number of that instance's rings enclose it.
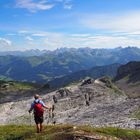
<instances>
[{"instance_id":1,"label":"green and brown grassy ground strip under the hiker's feet","mask_svg":"<svg viewBox=\"0 0 140 140\"><path fill-rule=\"evenodd\" d=\"M117 128L92 128L89 126L45 126L40 134L33 126L0 126L1 140L138 140L140 131Z\"/></svg>"}]
</instances>

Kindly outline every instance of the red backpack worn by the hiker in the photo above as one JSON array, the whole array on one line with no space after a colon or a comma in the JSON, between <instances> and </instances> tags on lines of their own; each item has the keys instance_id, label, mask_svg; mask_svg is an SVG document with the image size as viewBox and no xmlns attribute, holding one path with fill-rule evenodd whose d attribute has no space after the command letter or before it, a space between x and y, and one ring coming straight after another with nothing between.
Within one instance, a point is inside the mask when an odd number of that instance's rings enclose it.
<instances>
[{"instance_id":1,"label":"red backpack worn by the hiker","mask_svg":"<svg viewBox=\"0 0 140 140\"><path fill-rule=\"evenodd\" d=\"M35 116L38 116L38 117L43 116L44 110L42 108L42 104L39 101L37 103L34 102L34 113L35 113Z\"/></svg>"}]
</instances>

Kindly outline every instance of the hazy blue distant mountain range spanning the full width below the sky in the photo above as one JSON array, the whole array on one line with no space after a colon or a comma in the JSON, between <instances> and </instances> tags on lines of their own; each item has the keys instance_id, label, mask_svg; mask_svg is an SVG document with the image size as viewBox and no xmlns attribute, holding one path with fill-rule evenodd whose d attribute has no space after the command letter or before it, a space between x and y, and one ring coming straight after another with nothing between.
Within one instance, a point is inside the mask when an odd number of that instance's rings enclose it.
<instances>
[{"instance_id":1,"label":"hazy blue distant mountain range spanning the full width below the sky","mask_svg":"<svg viewBox=\"0 0 140 140\"><path fill-rule=\"evenodd\" d=\"M81 70L140 60L140 48L61 48L0 53L0 78L47 83ZM116 71L116 70L115 70Z\"/></svg>"}]
</instances>

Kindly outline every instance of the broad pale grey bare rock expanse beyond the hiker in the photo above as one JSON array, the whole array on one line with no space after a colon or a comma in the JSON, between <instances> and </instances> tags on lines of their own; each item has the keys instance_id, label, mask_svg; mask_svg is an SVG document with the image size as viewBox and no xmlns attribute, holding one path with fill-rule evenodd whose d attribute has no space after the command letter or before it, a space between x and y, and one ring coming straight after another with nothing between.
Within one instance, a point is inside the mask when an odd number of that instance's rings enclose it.
<instances>
[{"instance_id":1,"label":"broad pale grey bare rock expanse beyond the hiker","mask_svg":"<svg viewBox=\"0 0 140 140\"><path fill-rule=\"evenodd\" d=\"M45 124L80 124L94 127L116 126L139 129L140 120L131 118L139 109L139 99L129 99L114 86L107 86L96 79L86 84L79 83L43 96L44 102L53 107L45 111ZM28 113L33 99L0 105L0 124L33 124L33 115Z\"/></svg>"}]
</instances>

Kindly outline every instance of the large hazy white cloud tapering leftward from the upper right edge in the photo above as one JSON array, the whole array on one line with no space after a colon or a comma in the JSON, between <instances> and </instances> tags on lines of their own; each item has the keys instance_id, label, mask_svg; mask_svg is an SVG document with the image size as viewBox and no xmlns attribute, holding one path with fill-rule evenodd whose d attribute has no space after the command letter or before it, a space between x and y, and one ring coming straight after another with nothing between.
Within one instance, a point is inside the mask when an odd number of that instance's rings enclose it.
<instances>
[{"instance_id":1,"label":"large hazy white cloud tapering leftward from the upper right edge","mask_svg":"<svg viewBox=\"0 0 140 140\"><path fill-rule=\"evenodd\" d=\"M140 11L121 13L119 15L86 15L80 23L88 28L114 32L135 32L140 30Z\"/></svg>"}]
</instances>

